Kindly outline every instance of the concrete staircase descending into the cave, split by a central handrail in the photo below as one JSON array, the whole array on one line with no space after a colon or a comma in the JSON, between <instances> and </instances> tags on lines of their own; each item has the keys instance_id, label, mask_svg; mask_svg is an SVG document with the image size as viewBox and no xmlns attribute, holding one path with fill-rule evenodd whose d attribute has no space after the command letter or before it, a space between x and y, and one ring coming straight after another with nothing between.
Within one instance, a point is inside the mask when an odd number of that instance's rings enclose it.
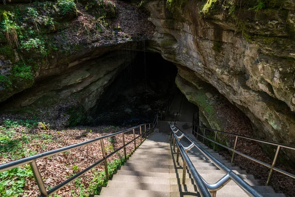
<instances>
[{"instance_id":1,"label":"concrete staircase descending into the cave, split by a central handrail","mask_svg":"<svg viewBox=\"0 0 295 197\"><path fill-rule=\"evenodd\" d=\"M100 196L96 197L200 196L188 169L186 170L186 184L182 184L183 162L181 158L179 158L178 163L176 162L177 153L170 143L169 133L169 123L160 121L155 132L121 166L107 186L102 188ZM253 175L247 174L245 170L241 170L238 166L234 166L203 143L199 141L197 143L264 197L285 197L284 194L276 194L270 186L263 186L260 180L256 180ZM183 146L189 145L185 141L181 144ZM207 183L215 183L226 174L196 147L189 150L187 154L198 173ZM216 197L248 197L248 195L231 180L217 191Z\"/></svg>"}]
</instances>

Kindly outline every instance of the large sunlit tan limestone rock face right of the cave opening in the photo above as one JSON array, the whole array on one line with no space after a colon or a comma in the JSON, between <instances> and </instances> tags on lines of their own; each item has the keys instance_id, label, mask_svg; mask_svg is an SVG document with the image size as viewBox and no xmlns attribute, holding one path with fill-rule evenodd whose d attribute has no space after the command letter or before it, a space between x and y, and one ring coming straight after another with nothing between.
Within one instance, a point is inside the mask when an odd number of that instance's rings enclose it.
<instances>
[{"instance_id":1,"label":"large sunlit tan limestone rock face right of the cave opening","mask_svg":"<svg viewBox=\"0 0 295 197\"><path fill-rule=\"evenodd\" d=\"M188 1L175 17L164 1L152 0L147 8L156 27L153 48L235 104L255 125L256 137L295 145L295 42L288 37L294 6L294 0L286 0L271 16L239 13L248 28L245 39L222 14L201 19L200 1ZM181 76L198 86L193 76Z\"/></svg>"}]
</instances>

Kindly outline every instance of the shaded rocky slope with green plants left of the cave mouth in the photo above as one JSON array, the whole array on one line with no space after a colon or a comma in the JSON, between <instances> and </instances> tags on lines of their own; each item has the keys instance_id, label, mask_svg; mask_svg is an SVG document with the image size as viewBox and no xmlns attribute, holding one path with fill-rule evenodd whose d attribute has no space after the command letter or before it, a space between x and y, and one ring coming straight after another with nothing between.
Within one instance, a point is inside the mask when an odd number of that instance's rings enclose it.
<instances>
[{"instance_id":1,"label":"shaded rocky slope with green plants left of the cave mouth","mask_svg":"<svg viewBox=\"0 0 295 197\"><path fill-rule=\"evenodd\" d=\"M3 2L0 111L37 114L55 126L75 125L95 111L132 61L126 50L143 50L154 30L138 1Z\"/></svg>"}]
</instances>

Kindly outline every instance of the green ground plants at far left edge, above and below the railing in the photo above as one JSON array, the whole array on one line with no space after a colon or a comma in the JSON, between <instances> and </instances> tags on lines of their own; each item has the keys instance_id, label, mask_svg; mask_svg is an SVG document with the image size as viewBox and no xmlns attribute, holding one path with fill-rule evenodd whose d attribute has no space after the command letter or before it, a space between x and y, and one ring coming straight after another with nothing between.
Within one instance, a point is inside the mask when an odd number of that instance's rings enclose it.
<instances>
[{"instance_id":1,"label":"green ground plants at far left edge, above and below the railing","mask_svg":"<svg viewBox=\"0 0 295 197\"><path fill-rule=\"evenodd\" d=\"M28 144L32 140L40 140L42 143L52 141L52 136L42 134L28 134L26 129L34 128L37 121L6 119L0 126L0 158L21 159L37 152L30 150ZM24 127L24 129L21 129ZM24 194L26 178L33 177L29 165L16 167L0 173L0 196L18 197Z\"/></svg>"}]
</instances>

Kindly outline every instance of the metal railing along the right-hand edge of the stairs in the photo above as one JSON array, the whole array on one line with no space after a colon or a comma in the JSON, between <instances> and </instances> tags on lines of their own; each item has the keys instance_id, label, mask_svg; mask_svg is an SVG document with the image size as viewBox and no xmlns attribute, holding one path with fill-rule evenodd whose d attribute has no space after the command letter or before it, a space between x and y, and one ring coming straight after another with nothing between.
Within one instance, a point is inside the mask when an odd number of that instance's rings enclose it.
<instances>
[{"instance_id":1,"label":"metal railing along the right-hand edge of the stairs","mask_svg":"<svg viewBox=\"0 0 295 197\"><path fill-rule=\"evenodd\" d=\"M197 127L197 132L196 132L196 127ZM202 129L204 131L202 131ZM199 133L199 130L203 132L203 135ZM277 159L278 159L278 156L279 156L279 153L280 153L281 148L287 148L287 149L290 149L290 150L295 150L295 147L293 147L293 146L288 146L288 145L284 145L284 144L280 144L280 143L270 142L270 141L266 141L266 140L262 140L262 139L256 139L256 138L252 138L252 137L246 137L246 136L243 136L243 135L229 133L229 132L225 132L225 131L218 131L218 130L208 129L208 128L205 128L205 127L197 126L195 124L193 124L192 131L193 131L193 134L194 135L197 134L197 136L195 135L197 139L198 139L198 136L203 137L203 143L204 143L204 140L205 139L207 139L210 142L213 142L214 143L213 150L215 150L215 144L217 144L217 145L219 145L219 146L221 146L223 148L226 148L226 149L232 151L233 154L232 154L231 163L234 163L235 154L238 154L238 155L240 155L242 157L245 157L245 158L247 158L249 160L252 160L252 161L254 161L254 162L258 163L258 164L262 164L262 165L268 167L270 169L270 171L269 171L269 174L268 174L268 177L267 177L266 186L268 186L269 183L270 183L270 180L271 180L273 171L280 172L282 174L285 174L285 175L290 176L290 177L292 177L292 178L295 179L295 175L294 174L291 174L291 173L289 173L289 172L287 172L285 170L282 170L282 169L279 169L279 168L275 167L275 164L277 162ZM214 132L214 135L215 135L214 136L214 140L206 137L206 131L213 131ZM225 146L225 145L223 145L221 143L218 143L216 141L218 133L224 133L224 134L227 134L227 135L235 136L236 139L235 139L234 148L230 148L230 147L227 147L227 146ZM275 152L275 155L274 155L274 158L272 160L271 165L270 164L266 164L266 163L264 163L264 162L262 162L260 160L257 160L257 159L255 159L253 157L250 157L250 156L248 156L246 154L243 154L243 153L241 153L239 151L236 151L238 138L248 139L248 140L251 140L251 141L256 141L256 142L260 142L260 143L264 143L264 144L270 144L270 145L277 146L276 152Z\"/></svg>"}]
</instances>

